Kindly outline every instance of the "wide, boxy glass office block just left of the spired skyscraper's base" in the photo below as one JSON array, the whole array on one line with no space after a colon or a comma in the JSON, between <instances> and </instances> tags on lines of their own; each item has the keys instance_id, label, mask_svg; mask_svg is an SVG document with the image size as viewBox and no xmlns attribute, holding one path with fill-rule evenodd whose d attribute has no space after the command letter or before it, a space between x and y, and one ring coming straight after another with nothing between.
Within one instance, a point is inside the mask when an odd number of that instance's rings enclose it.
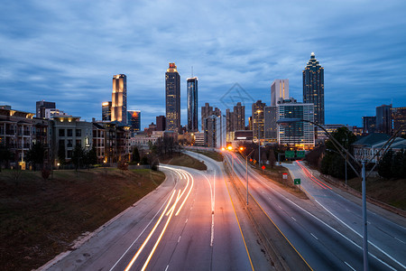
<instances>
[{"instance_id":1,"label":"wide, boxy glass office block just left of the spired skyscraper's base","mask_svg":"<svg viewBox=\"0 0 406 271\"><path fill-rule=\"evenodd\" d=\"M277 108L276 118L300 118L314 121L314 105L297 103L294 100L283 102ZM281 145L295 145L308 149L315 143L314 126L309 122L299 121L287 126L278 125L278 142Z\"/></svg>"}]
</instances>

